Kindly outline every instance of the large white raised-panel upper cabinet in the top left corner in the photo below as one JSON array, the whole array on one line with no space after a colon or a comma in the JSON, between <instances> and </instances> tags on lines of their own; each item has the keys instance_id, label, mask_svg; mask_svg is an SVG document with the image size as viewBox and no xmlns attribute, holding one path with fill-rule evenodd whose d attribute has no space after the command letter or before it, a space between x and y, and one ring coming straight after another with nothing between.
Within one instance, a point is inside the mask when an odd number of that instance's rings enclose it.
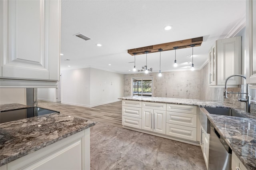
<instances>
[{"instance_id":1,"label":"large white raised-panel upper cabinet in the top left corner","mask_svg":"<svg viewBox=\"0 0 256 170\"><path fill-rule=\"evenodd\" d=\"M0 14L0 78L57 81L60 0L1 0Z\"/></svg>"}]
</instances>

